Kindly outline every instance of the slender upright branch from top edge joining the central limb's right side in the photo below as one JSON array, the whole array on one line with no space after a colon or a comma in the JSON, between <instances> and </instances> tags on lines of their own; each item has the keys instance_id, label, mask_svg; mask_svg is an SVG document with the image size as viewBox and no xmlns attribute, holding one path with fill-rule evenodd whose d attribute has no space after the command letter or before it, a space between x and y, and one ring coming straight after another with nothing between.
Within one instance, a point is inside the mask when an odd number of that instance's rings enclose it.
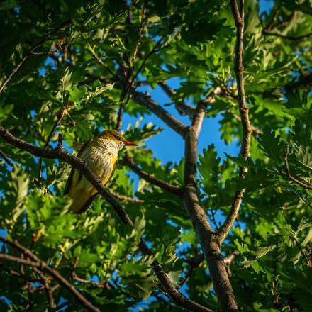
<instances>
[{"instance_id":1,"label":"slender upright branch from top edge joining the central limb's right side","mask_svg":"<svg viewBox=\"0 0 312 312\"><path fill-rule=\"evenodd\" d=\"M244 87L244 66L243 66L243 44L244 44L244 1L240 1L240 11L238 11L238 4L236 0L230 1L232 14L236 26L236 45L235 45L235 77L238 86L238 106L240 108L240 119L243 126L243 139L240 147L240 154L243 155L246 160L250 155L250 139L252 128L250 126L248 108L245 99L245 87ZM245 168L240 167L240 178L244 177ZM241 189L235 192L235 196L230 208L230 212L225 219L225 222L221 226L218 232L218 239L222 242L235 222L238 216L238 211L242 203L245 189Z\"/></svg>"}]
</instances>

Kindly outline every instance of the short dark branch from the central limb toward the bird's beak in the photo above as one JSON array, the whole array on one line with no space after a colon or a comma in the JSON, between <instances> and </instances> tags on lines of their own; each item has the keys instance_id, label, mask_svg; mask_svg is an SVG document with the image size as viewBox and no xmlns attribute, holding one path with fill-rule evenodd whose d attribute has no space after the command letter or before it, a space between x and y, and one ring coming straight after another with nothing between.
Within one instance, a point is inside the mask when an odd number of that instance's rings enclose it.
<instances>
[{"instance_id":1,"label":"short dark branch from the central limb toward the bird's beak","mask_svg":"<svg viewBox=\"0 0 312 312\"><path fill-rule=\"evenodd\" d=\"M149 174L145 172L144 170L140 169L137 165L135 165L135 162L133 159L126 153L126 155L123 157L123 162L133 170L138 176L140 176L142 179L144 179L146 182L149 182L150 184L154 184L156 186L159 186L161 189L165 189L166 191L169 191L170 193L176 194L178 196L182 195L182 189L181 187L177 185L170 184L168 182L165 182L161 179L158 179L157 177L154 177L154 175Z\"/></svg>"}]
</instances>

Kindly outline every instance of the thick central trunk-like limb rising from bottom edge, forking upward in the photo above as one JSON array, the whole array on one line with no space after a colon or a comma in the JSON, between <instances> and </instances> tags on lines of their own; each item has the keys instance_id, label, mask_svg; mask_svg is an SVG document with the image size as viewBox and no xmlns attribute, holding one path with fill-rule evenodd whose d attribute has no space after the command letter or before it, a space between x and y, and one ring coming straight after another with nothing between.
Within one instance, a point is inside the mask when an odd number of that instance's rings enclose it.
<instances>
[{"instance_id":1,"label":"thick central trunk-like limb rising from bottom edge, forking upward","mask_svg":"<svg viewBox=\"0 0 312 312\"><path fill-rule=\"evenodd\" d=\"M204 209L199 204L199 196L196 189L197 141L199 132L204 121L207 105L214 100L216 94L220 93L221 88L217 87L208 94L208 97L204 101L199 102L191 126L186 132L183 201L194 229L199 236L201 249L204 252L204 257L209 267L213 287L216 291L221 310L234 311L238 309L238 306L221 255L220 242L217 240L216 233L213 232L208 222Z\"/></svg>"}]
</instances>

